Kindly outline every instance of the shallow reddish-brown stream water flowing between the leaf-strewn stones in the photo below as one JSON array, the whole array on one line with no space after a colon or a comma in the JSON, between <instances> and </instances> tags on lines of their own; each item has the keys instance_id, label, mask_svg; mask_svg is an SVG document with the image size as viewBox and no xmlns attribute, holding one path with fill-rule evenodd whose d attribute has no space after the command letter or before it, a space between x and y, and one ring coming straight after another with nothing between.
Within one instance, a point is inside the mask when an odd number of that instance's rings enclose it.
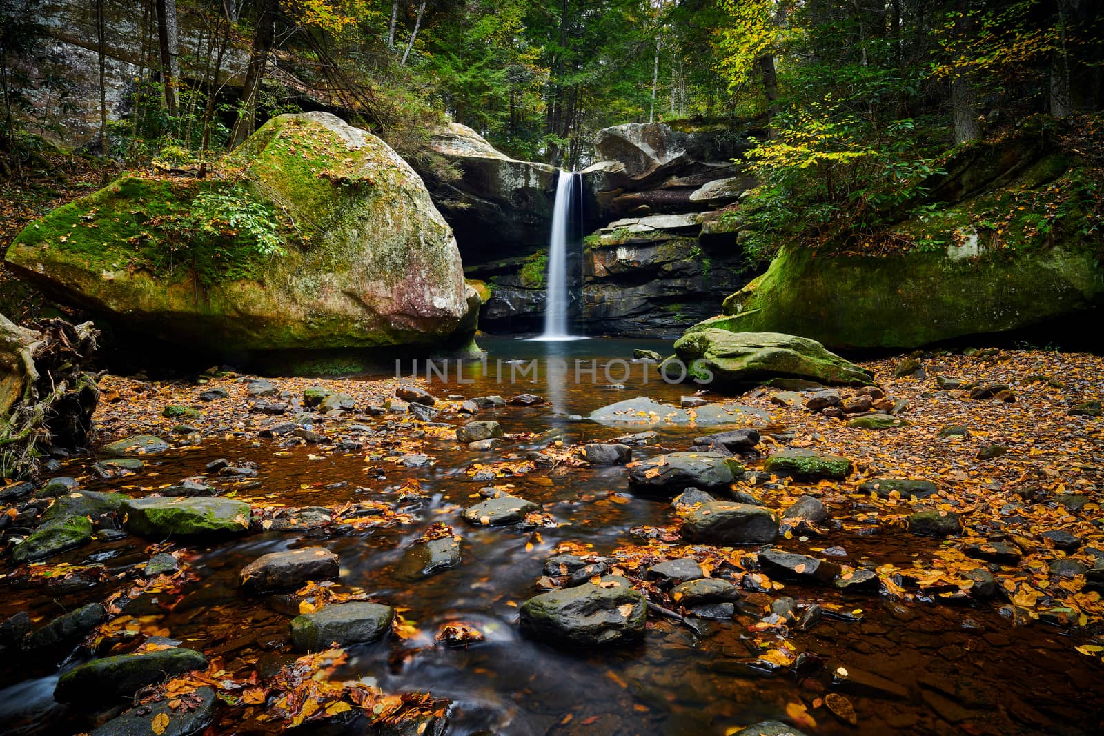
<instances>
[{"instance_id":1,"label":"shallow reddish-brown stream water flowing between the leaf-strewn stones","mask_svg":"<svg viewBox=\"0 0 1104 736\"><path fill-rule=\"evenodd\" d=\"M573 343L489 341L486 371L469 366L465 381L429 386L435 395L541 394L549 404L507 407L479 418L499 420L506 431L543 433L560 428L565 444L606 439L626 430L580 422L582 414L622 398L648 395L678 402L683 386L669 386L647 375L640 364L604 366L612 358L631 355L634 348L668 348L661 343L628 340L587 340ZM509 371L518 363L497 360L540 361L541 372L531 383L510 384ZM543 370L556 359L596 361L592 381L584 371L576 383L574 371ZM584 365L586 367L587 365ZM505 371L499 373L499 370ZM611 388L606 384L623 384ZM683 449L686 430L659 429L657 446L638 448L636 457ZM708 636L675 621L649 615L645 640L628 649L570 652L519 636L517 605L538 589L543 561L563 541L594 545L605 553L620 544L639 542L631 530L669 523L672 511L664 501L631 495L620 467L542 468L512 479L514 493L544 506L558 521L555 529L539 532L512 527L471 527L459 512L474 503L481 483L464 469L487 454L452 450L440 441L428 468L389 472L385 481L365 483L362 454L335 454L311 460L307 447L275 455L268 440L208 439L199 449L171 450L150 462L141 482L151 473L164 481L202 472L219 457L244 458L258 466L259 484L240 497L263 499L278 494L288 505L335 504L370 498L393 502L420 521L412 525L370 530L350 535L325 533L264 533L213 547L195 547L192 569L199 579L179 600L147 594L127 612L160 633L181 639L209 654L225 659L227 669L259 657L263 672L295 659L288 642L288 604L280 597L251 598L237 587L237 573L261 554L296 546L325 545L340 555L341 583L358 586L374 598L407 609L403 616L424 636L353 647L342 674L374 680L388 691L429 690L453 701L450 734L661 734L664 736L721 735L740 725L766 718L785 718L787 705L822 695L822 681L805 675L777 674L746 664L750 632L746 621L710 623ZM508 446L502 454L524 448ZM87 460L65 468L78 474ZM424 498L402 501L400 489L417 480ZM132 491L135 481L89 481L88 488ZM611 491L625 498L615 502ZM453 524L461 534L463 564L431 577L417 574L406 548L431 522ZM821 546L840 545L852 559L875 556L882 562L907 561L936 541L910 535L862 536L832 533ZM796 545L796 541L781 546ZM120 572L145 562L145 543L132 538L98 544L60 558L73 563L103 561ZM55 562L52 559L51 562ZM56 615L88 600L102 600L103 586L72 589L25 587L6 580L0 596L0 619L18 610L34 616ZM863 685L848 691L858 715L849 726L820 711L816 734L1089 734L1098 733L1100 671L1087 658L1071 659L1062 630L1041 623L1011 627L988 604L972 608L935 604L893 604L875 595L842 595L825 588L787 585L786 595L802 601L845 602L862 609L861 620L825 619L808 632L790 632L802 651L831 666L854 672ZM51 614L53 611L54 614ZM450 620L465 620L486 633L468 649L434 646L433 633ZM56 673L52 662L19 662L6 658L0 680L0 732L63 734L79 729L79 714L53 702ZM15 664L18 663L18 666ZM869 675L869 676L867 676ZM258 726L241 723L236 733Z\"/></svg>"}]
</instances>

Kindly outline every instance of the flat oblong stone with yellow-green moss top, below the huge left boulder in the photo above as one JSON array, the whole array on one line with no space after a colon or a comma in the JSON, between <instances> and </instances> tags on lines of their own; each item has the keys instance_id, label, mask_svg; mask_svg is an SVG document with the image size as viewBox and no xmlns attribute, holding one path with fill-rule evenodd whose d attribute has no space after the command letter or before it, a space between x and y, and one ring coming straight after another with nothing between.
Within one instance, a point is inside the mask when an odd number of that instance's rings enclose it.
<instances>
[{"instance_id":1,"label":"flat oblong stone with yellow-green moss top, below the huge left boulder","mask_svg":"<svg viewBox=\"0 0 1104 736\"><path fill-rule=\"evenodd\" d=\"M250 529L250 504L224 498L130 499L119 513L126 530L140 536L242 534Z\"/></svg>"}]
</instances>

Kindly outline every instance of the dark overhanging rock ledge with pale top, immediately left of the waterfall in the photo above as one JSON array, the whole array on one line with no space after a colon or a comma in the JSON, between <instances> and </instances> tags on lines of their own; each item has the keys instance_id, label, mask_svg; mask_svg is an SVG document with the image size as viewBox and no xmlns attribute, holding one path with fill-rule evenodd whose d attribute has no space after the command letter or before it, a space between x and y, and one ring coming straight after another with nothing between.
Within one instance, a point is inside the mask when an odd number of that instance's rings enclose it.
<instances>
[{"instance_id":1,"label":"dark overhanging rock ledge with pale top, immediately left of the waterfall","mask_svg":"<svg viewBox=\"0 0 1104 736\"><path fill-rule=\"evenodd\" d=\"M428 178L427 184L465 260L508 257L518 254L519 245L546 243L555 201L554 167L511 159L458 122L435 130L429 148L460 171L458 180Z\"/></svg>"}]
</instances>

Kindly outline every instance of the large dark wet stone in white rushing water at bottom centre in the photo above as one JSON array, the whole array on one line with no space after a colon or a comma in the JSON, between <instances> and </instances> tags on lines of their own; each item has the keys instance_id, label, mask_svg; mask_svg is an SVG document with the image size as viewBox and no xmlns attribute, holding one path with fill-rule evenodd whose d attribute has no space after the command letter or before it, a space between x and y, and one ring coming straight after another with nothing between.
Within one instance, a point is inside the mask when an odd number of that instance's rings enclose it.
<instances>
[{"instance_id":1,"label":"large dark wet stone in white rushing water at bottom centre","mask_svg":"<svg viewBox=\"0 0 1104 736\"><path fill-rule=\"evenodd\" d=\"M628 580L606 575L595 583L551 590L521 605L521 630L569 647L612 647L644 636L647 607Z\"/></svg>"}]
</instances>

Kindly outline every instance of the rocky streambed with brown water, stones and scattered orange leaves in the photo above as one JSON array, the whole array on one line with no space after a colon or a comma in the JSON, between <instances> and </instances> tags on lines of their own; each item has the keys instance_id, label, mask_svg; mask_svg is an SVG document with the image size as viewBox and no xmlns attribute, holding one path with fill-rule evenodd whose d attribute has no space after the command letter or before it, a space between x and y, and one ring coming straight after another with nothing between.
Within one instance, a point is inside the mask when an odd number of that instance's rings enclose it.
<instances>
[{"instance_id":1,"label":"rocky streambed with brown water, stones and scattered orange leaves","mask_svg":"<svg viewBox=\"0 0 1104 736\"><path fill-rule=\"evenodd\" d=\"M0 491L0 724L1096 733L1104 362L969 352L737 397L106 376L95 451Z\"/></svg>"}]
</instances>

